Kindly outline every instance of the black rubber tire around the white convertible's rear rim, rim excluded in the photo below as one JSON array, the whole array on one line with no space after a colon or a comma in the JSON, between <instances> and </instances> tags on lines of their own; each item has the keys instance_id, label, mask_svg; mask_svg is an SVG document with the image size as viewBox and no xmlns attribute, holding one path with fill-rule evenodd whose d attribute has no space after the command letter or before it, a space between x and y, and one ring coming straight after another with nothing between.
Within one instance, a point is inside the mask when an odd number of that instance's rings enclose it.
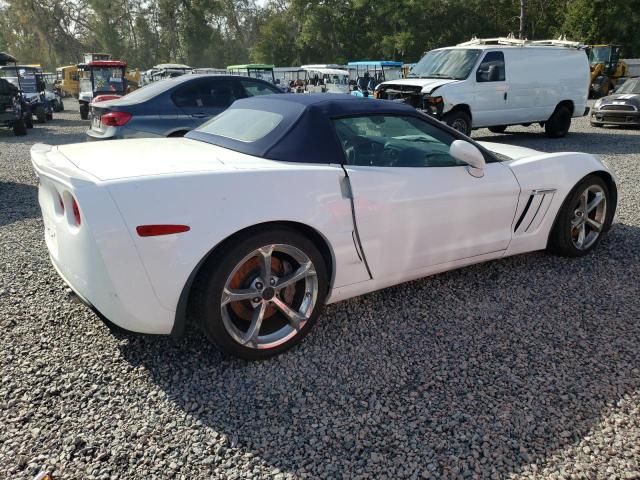
<instances>
[{"instance_id":1,"label":"black rubber tire around the white convertible's rear rim, rim excluded","mask_svg":"<svg viewBox=\"0 0 640 480\"><path fill-rule=\"evenodd\" d=\"M297 333L293 333L296 332L296 330L293 330L289 334L292 334L292 337L284 337L283 340L286 341L283 341L283 343L268 348L255 348L254 346L242 345L239 341L236 341L233 338L227 327L225 327L225 320L223 319L222 313L223 307L221 306L223 290L236 267L240 265L247 265L248 262L244 264L242 262L243 260L246 260L248 255L251 255L252 252L255 252L259 248L273 244L292 246L302 251L307 258L311 260L313 267L315 268L318 286L316 301L315 304L313 304L313 310L310 312L308 320L306 320L304 326L302 326ZM246 271L246 269L244 271ZM255 276L258 275L258 273L246 274L248 280L245 281L251 281L249 276L252 274ZM255 278L253 281L255 282ZM300 283L296 283L295 285L296 286L294 288L298 289L298 293L295 293L295 295L300 295L298 288ZM192 317L192 320L197 322L201 327L207 338L224 353L246 360L261 360L288 350L304 338L320 315L320 311L322 310L327 295L327 287L328 278L324 258L311 240L291 228L256 228L247 232L247 234L234 239L232 242L227 242L227 244L221 246L207 259L198 273L191 292L190 316ZM247 287L245 286L243 288ZM305 290L305 288L302 290ZM267 288L265 288L265 292L266 290ZM297 301L303 301L307 298L306 295L306 293L302 292L300 297L296 297L298 298ZM280 293L278 294L278 298L283 298ZM294 298L291 304L293 305L295 302L296 299ZM239 308L245 309L256 308L253 307L251 302L248 300L234 303L234 305L238 305ZM224 308L227 308L226 311L230 312L227 314L229 317L235 315L232 310L231 303ZM294 309L295 308L297 307L294 306ZM283 320L285 320L284 323L286 327L286 319L284 315L282 315L277 309L274 311L275 313L271 313L270 317L265 317L265 320L263 321L263 328L265 325L264 322L282 322ZM253 310L253 312L255 312L255 310ZM267 313L265 313L265 315ZM239 318L240 317L235 317L234 322L242 321L242 319L238 320ZM247 330L249 330L246 318L243 325L245 324L247 325ZM269 327L269 325L267 325L267 327ZM278 331L278 328L279 327L276 327L276 331ZM260 333L260 331L258 333Z\"/></svg>"}]
</instances>

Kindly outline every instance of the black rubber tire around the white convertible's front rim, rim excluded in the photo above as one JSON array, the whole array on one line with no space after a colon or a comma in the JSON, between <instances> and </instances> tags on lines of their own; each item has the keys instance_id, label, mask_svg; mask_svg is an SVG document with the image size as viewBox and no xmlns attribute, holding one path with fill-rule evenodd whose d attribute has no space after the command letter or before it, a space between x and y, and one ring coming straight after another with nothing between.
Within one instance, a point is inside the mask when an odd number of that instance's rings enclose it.
<instances>
[{"instance_id":1,"label":"black rubber tire around the white convertible's front rim, rim excluded","mask_svg":"<svg viewBox=\"0 0 640 480\"><path fill-rule=\"evenodd\" d=\"M593 243L587 248L578 248L572 237L572 222L576 219L575 212L579 209L581 195L590 187L600 188L604 192L606 200L606 208L603 209L605 218L602 222L602 230ZM547 249L563 257L582 257L587 255L598 246L602 235L611 227L614 213L614 199L611 196L606 182L597 175L592 174L586 176L569 192L569 195L567 195L567 198L560 207L549 235Z\"/></svg>"}]
</instances>

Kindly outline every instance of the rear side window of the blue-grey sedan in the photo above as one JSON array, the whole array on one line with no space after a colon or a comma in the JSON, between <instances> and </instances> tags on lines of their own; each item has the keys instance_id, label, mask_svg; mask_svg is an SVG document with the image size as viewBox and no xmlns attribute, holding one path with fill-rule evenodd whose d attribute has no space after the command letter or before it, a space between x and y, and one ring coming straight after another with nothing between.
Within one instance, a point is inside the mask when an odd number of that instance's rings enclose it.
<instances>
[{"instance_id":1,"label":"rear side window of the blue-grey sedan","mask_svg":"<svg viewBox=\"0 0 640 480\"><path fill-rule=\"evenodd\" d=\"M227 78L201 78L182 85L172 95L178 107L228 108L235 100L233 84Z\"/></svg>"}]
</instances>

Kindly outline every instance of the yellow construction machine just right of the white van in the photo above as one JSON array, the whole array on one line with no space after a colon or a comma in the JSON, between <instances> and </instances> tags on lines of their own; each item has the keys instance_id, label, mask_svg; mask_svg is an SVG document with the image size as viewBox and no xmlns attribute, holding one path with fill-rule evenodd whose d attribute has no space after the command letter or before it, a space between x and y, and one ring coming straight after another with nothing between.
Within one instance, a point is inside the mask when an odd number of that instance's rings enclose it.
<instances>
[{"instance_id":1,"label":"yellow construction machine just right of the white van","mask_svg":"<svg viewBox=\"0 0 640 480\"><path fill-rule=\"evenodd\" d=\"M590 98L606 97L627 74L627 64L620 59L620 45L589 45L589 65L591 67Z\"/></svg>"}]
</instances>

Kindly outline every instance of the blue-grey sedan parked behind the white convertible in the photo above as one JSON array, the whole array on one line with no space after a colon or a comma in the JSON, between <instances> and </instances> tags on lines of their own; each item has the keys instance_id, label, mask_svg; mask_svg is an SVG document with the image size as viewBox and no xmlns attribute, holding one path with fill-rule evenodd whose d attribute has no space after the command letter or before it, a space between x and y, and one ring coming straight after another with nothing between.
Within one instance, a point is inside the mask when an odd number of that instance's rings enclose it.
<instances>
[{"instance_id":1,"label":"blue-grey sedan parked behind the white convertible","mask_svg":"<svg viewBox=\"0 0 640 480\"><path fill-rule=\"evenodd\" d=\"M282 93L263 80L234 75L183 75L91 106L88 140L181 137L235 100Z\"/></svg>"}]
</instances>

